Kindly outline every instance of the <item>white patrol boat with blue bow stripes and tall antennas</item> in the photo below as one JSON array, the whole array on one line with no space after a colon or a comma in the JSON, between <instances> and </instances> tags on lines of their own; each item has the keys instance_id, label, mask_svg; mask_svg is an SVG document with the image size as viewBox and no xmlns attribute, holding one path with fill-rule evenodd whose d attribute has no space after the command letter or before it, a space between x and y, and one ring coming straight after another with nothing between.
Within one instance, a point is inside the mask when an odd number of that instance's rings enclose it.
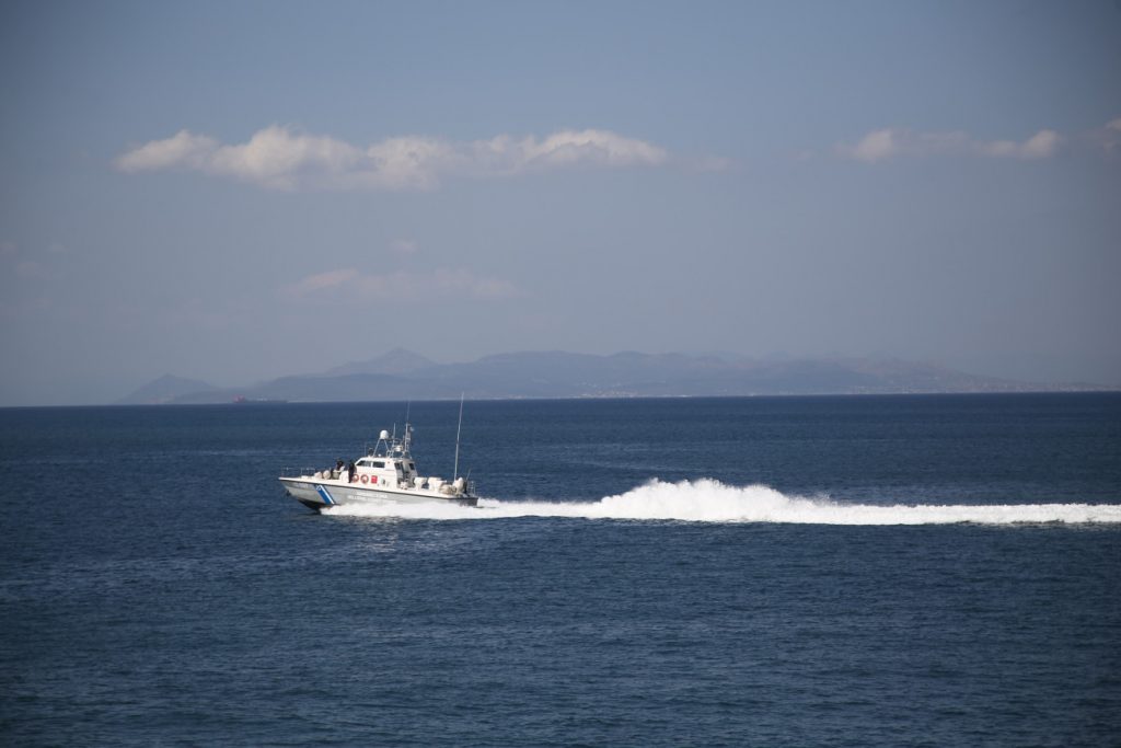
<instances>
[{"instance_id":1,"label":"white patrol boat with blue bow stripes and tall antennas","mask_svg":"<svg viewBox=\"0 0 1121 748\"><path fill-rule=\"evenodd\" d=\"M284 474L280 483L289 496L316 511L343 504L395 501L447 501L474 507L479 505L474 483L458 474L458 434L455 442L455 475L451 481L420 475L410 452L413 427L405 424L405 434L400 438L396 433L390 435L388 431L382 431L373 449L367 450L363 456L353 462L353 471L340 460L334 468L326 470Z\"/></svg>"}]
</instances>

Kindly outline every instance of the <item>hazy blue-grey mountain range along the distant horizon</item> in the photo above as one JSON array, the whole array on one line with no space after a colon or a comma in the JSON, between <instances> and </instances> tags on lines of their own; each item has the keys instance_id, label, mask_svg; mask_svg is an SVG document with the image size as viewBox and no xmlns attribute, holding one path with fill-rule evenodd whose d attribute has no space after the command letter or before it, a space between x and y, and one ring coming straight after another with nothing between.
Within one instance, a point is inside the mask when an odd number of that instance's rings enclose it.
<instances>
[{"instance_id":1,"label":"hazy blue-grey mountain range along the distant horizon","mask_svg":"<svg viewBox=\"0 0 1121 748\"><path fill-rule=\"evenodd\" d=\"M1020 393L1091 389L979 377L897 359L760 361L731 355L623 352L612 355L527 351L469 363L436 363L395 349L316 375L280 377L239 388L166 375L120 404L361 401L457 398L703 397Z\"/></svg>"}]
</instances>

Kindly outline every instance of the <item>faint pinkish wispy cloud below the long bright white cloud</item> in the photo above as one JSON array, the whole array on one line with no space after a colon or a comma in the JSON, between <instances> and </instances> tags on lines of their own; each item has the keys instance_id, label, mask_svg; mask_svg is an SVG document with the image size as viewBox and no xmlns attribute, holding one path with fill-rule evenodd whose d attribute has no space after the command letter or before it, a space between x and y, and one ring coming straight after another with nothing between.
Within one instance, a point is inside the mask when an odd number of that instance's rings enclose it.
<instances>
[{"instance_id":1,"label":"faint pinkish wispy cloud below the long bright white cloud","mask_svg":"<svg viewBox=\"0 0 1121 748\"><path fill-rule=\"evenodd\" d=\"M281 290L295 298L335 294L359 301L423 298L425 303L462 298L500 299L521 295L515 286L499 278L446 268L424 274L396 270L381 275L363 274L353 268L327 270L300 278Z\"/></svg>"}]
</instances>

